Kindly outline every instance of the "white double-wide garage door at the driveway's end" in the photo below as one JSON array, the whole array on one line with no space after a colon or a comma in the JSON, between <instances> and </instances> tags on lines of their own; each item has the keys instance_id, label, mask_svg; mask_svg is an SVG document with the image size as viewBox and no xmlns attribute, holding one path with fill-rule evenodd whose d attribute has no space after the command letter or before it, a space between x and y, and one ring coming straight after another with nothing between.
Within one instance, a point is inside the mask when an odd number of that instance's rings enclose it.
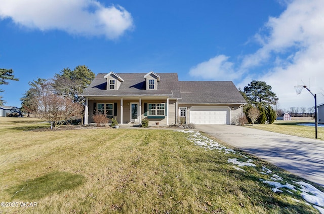
<instances>
[{"instance_id":1,"label":"white double-wide garage door at the driveway's end","mask_svg":"<svg viewBox=\"0 0 324 214\"><path fill-rule=\"evenodd\" d=\"M195 124L229 124L227 107L191 107L189 119Z\"/></svg>"}]
</instances>

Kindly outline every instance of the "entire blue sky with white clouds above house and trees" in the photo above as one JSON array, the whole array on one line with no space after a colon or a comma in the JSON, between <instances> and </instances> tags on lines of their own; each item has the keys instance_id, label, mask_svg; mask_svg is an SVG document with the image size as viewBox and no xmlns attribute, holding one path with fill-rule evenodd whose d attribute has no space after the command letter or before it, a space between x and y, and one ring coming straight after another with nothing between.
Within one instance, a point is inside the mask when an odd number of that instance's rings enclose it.
<instances>
[{"instance_id":1,"label":"entire blue sky with white clouds above house and trees","mask_svg":"<svg viewBox=\"0 0 324 214\"><path fill-rule=\"evenodd\" d=\"M95 74L176 72L179 80L266 81L279 107L323 103L322 0L0 0L1 85L20 107L28 82L87 65ZM303 81L303 82L302 82Z\"/></svg>"}]
</instances>

